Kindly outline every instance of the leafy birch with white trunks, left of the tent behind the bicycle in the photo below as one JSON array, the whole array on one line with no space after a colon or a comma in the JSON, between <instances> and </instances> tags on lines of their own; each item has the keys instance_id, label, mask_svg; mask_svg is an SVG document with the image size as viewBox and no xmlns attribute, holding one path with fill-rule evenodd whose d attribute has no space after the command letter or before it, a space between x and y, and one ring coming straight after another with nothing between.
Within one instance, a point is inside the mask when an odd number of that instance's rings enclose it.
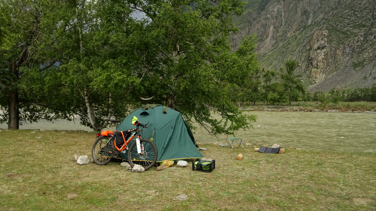
<instances>
[{"instance_id":1,"label":"leafy birch with white trunks, left of the tent behind the bicycle","mask_svg":"<svg viewBox=\"0 0 376 211\"><path fill-rule=\"evenodd\" d=\"M45 72L28 69L23 86L41 106L100 131L108 120L124 117L133 102L129 94L140 79L132 74L132 49L119 48L118 32L131 34L133 21L126 3L62 1L54 11L41 46L53 46L59 66ZM127 88L128 90L125 90ZM115 97L115 98L114 98Z\"/></svg>"}]
</instances>

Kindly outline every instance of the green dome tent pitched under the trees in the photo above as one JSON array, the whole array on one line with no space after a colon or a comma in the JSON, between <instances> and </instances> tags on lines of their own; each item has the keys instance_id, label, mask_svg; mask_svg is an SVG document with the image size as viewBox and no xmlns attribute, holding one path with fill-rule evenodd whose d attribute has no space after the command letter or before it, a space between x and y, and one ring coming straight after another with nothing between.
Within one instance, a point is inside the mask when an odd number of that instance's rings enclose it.
<instances>
[{"instance_id":1,"label":"green dome tent pitched under the trees","mask_svg":"<svg viewBox=\"0 0 376 211\"><path fill-rule=\"evenodd\" d=\"M152 140L158 150L156 162L165 160L179 160L203 158L204 156L197 149L196 141L190 127L183 120L180 112L162 105L148 104L133 111L117 127L118 131L136 128L132 124L132 117L136 116L138 121L146 124L142 137ZM129 142L130 146L133 141ZM127 159L127 151L119 154Z\"/></svg>"}]
</instances>

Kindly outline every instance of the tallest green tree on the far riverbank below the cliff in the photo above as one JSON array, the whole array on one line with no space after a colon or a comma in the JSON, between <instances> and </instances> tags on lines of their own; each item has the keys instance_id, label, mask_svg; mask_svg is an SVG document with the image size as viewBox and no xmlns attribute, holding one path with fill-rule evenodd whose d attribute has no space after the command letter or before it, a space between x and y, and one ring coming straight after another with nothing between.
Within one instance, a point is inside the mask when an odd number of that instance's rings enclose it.
<instances>
[{"instance_id":1,"label":"tallest green tree on the far riverbank below the cliff","mask_svg":"<svg viewBox=\"0 0 376 211\"><path fill-rule=\"evenodd\" d=\"M294 70L299 64L294 60L287 60L285 62L286 69L282 67L279 69L282 85L285 88L285 92L288 96L289 105L291 105L291 99L297 98L300 93L304 94L305 88L299 77L302 75L295 75Z\"/></svg>"}]
</instances>

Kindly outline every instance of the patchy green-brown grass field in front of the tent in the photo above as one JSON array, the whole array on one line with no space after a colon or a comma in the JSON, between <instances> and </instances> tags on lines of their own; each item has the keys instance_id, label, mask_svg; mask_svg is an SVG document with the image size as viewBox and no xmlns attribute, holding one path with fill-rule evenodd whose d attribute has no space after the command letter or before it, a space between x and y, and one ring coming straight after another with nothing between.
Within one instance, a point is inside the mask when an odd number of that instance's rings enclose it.
<instances>
[{"instance_id":1,"label":"patchy green-brown grass field in front of the tent","mask_svg":"<svg viewBox=\"0 0 376 211\"><path fill-rule=\"evenodd\" d=\"M95 133L2 130L0 210L376 210L376 154L201 144L214 171L80 166ZM39 138L41 137L41 138ZM242 160L237 160L238 154ZM174 196L186 194L185 201Z\"/></svg>"}]
</instances>

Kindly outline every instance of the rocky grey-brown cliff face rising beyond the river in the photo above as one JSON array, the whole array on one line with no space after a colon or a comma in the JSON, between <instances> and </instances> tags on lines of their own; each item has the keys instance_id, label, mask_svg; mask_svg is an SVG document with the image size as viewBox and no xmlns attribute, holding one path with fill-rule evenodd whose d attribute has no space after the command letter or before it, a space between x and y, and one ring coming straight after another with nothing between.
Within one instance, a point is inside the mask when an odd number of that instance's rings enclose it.
<instances>
[{"instance_id":1,"label":"rocky grey-brown cliff face rising beyond the river","mask_svg":"<svg viewBox=\"0 0 376 211\"><path fill-rule=\"evenodd\" d=\"M376 84L375 13L375 0L249 0L233 48L256 33L265 69L294 59L310 90L369 87Z\"/></svg>"}]
</instances>

